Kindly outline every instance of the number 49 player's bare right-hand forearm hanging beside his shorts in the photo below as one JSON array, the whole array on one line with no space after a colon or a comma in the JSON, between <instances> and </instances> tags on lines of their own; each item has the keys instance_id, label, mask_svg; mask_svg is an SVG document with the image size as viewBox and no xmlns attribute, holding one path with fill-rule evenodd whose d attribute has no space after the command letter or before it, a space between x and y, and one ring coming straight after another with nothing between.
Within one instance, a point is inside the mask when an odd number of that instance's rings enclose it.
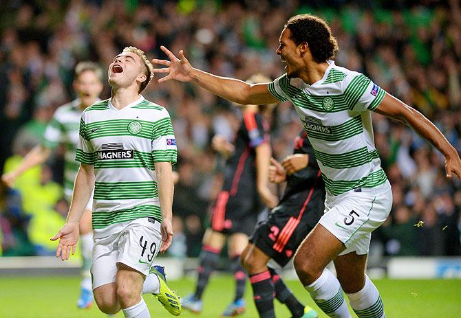
<instances>
[{"instance_id":1,"label":"number 49 player's bare right-hand forearm hanging beside his shorts","mask_svg":"<svg viewBox=\"0 0 461 318\"><path fill-rule=\"evenodd\" d=\"M156 177L158 184L158 199L162 209L162 245L160 252L167 251L173 241L173 170L171 162L156 162Z\"/></svg>"}]
</instances>

